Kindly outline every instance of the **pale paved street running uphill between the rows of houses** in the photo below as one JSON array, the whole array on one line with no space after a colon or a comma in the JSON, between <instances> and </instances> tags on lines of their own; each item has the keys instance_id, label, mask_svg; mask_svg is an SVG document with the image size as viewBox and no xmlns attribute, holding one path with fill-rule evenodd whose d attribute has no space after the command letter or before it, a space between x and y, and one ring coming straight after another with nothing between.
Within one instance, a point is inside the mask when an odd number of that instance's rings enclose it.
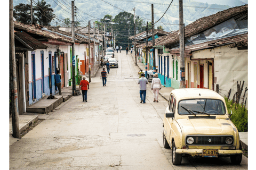
<instances>
[{"instance_id":1,"label":"pale paved street running uphill between the rows of houses","mask_svg":"<svg viewBox=\"0 0 256 170\"><path fill-rule=\"evenodd\" d=\"M148 85L140 103L138 67L130 55L116 53L107 86L100 72L92 78L87 103L74 96L58 106L10 146L10 169L247 169L229 158L183 158L172 165L171 149L163 148L163 115L167 101L153 103ZM87 78L87 80L89 80Z\"/></svg>"}]
</instances>

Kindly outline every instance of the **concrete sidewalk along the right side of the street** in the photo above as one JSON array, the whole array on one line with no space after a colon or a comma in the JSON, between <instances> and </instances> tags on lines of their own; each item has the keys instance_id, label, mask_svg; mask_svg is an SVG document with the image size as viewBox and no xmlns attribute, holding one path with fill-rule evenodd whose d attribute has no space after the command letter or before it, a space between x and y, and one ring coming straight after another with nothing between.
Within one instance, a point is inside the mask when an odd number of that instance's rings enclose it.
<instances>
[{"instance_id":1,"label":"concrete sidewalk along the right side of the street","mask_svg":"<svg viewBox=\"0 0 256 170\"><path fill-rule=\"evenodd\" d=\"M131 53L130 53L130 56L132 57L132 60L135 64L134 54L131 55ZM139 69L142 69L142 70L145 70L145 67L146 67L143 63L138 63L138 62L137 62L137 66L139 67ZM166 101L169 101L169 97L170 97L172 90L174 90L174 88L172 88L172 87L166 88L166 87L162 86L162 89L159 90L159 95L162 96ZM240 137L240 141L242 143L242 148L244 150L248 151L248 132L239 132L239 137Z\"/></svg>"}]
</instances>

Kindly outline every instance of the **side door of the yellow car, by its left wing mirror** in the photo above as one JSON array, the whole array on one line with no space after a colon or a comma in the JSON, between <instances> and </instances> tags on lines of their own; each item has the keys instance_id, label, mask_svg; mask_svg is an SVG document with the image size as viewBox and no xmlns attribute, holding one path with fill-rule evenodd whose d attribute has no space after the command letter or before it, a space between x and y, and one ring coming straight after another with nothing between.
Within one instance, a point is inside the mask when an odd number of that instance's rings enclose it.
<instances>
[{"instance_id":1,"label":"side door of the yellow car, by its left wing mirror","mask_svg":"<svg viewBox=\"0 0 256 170\"><path fill-rule=\"evenodd\" d=\"M172 112L173 99L174 99L174 96L170 95L169 104L166 108L166 113L171 113ZM171 127L172 127L172 118L166 118L164 116L164 132L165 132L164 135L165 135L165 137L168 141L170 141Z\"/></svg>"}]
</instances>

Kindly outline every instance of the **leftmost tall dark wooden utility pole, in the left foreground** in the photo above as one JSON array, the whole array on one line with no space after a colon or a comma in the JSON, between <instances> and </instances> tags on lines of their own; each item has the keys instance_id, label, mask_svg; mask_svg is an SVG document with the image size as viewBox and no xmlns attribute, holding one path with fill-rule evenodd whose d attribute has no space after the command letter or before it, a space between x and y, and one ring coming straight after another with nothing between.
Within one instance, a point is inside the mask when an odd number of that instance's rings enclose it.
<instances>
[{"instance_id":1,"label":"leftmost tall dark wooden utility pole, in the left foreground","mask_svg":"<svg viewBox=\"0 0 256 170\"><path fill-rule=\"evenodd\" d=\"M14 45L14 26L13 26L13 1L9 1L10 5L10 99L12 113L12 135L14 138L20 138L19 128L19 107L18 107L18 88L17 88L17 76L16 76L16 61L15 61L15 45Z\"/></svg>"}]
</instances>

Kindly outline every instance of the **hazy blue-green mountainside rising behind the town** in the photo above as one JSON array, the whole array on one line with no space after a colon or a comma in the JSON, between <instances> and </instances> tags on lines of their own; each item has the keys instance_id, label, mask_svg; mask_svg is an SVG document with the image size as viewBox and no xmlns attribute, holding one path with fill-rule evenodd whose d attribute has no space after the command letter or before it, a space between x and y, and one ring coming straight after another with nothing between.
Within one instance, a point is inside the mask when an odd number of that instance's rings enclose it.
<instances>
[{"instance_id":1,"label":"hazy blue-green mountainside rising behind the town","mask_svg":"<svg viewBox=\"0 0 256 170\"><path fill-rule=\"evenodd\" d=\"M36 0L33 0L37 2ZM47 4L51 4L55 15L60 19L71 19L71 0L45 0ZM246 1L246 0L244 0ZM27 4L29 0L13 0L13 5L19 3ZM88 21L102 19L106 14L112 15L113 18L119 12L130 12L133 14L132 8L135 7L135 15L139 15L145 23L151 22L151 4L154 4L155 22L161 18L170 4L170 0L154 1L154 0L76 0L75 6L78 8L75 20L81 23L81 26L86 26ZM206 3L208 2L208 3ZM183 0L183 17L185 25L196 21L204 16L209 16L222 10L226 10L233 6L244 5L245 3L239 0L214 0L211 4L209 0ZM225 2L225 3L223 3ZM89 14L89 15L88 15ZM90 16L91 15L91 16ZM55 19L55 21L58 21ZM55 25L55 21L52 25ZM163 16L161 21L155 24L155 28L162 25L165 31L173 31L179 29L179 4L178 1L173 1L169 10ZM63 25L58 21L58 25Z\"/></svg>"}]
</instances>

